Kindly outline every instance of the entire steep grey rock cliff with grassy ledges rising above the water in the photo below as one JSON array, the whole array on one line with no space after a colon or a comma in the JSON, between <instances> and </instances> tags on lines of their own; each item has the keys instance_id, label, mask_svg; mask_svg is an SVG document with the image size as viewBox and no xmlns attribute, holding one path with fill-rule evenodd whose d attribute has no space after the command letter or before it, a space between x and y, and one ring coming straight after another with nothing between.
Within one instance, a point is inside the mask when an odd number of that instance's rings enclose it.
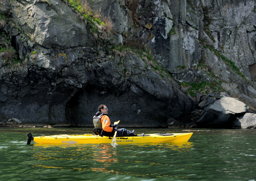
<instances>
[{"instance_id":1,"label":"entire steep grey rock cliff with grassy ledges rising above the water","mask_svg":"<svg viewBox=\"0 0 256 181\"><path fill-rule=\"evenodd\" d=\"M106 104L120 126L196 127L225 91L256 110L254 0L3 0L0 11L3 122L92 126Z\"/></svg>"}]
</instances>

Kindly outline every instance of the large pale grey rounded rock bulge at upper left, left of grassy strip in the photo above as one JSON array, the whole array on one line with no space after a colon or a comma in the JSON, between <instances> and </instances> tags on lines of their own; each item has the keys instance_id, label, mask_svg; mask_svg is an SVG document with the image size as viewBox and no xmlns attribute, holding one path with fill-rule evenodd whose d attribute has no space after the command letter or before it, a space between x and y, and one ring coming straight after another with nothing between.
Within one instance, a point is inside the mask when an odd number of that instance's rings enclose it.
<instances>
[{"instance_id":1,"label":"large pale grey rounded rock bulge at upper left, left of grassy strip","mask_svg":"<svg viewBox=\"0 0 256 181\"><path fill-rule=\"evenodd\" d=\"M89 27L61 0L10 4L14 23L33 34L35 42L45 48L93 45Z\"/></svg>"}]
</instances>

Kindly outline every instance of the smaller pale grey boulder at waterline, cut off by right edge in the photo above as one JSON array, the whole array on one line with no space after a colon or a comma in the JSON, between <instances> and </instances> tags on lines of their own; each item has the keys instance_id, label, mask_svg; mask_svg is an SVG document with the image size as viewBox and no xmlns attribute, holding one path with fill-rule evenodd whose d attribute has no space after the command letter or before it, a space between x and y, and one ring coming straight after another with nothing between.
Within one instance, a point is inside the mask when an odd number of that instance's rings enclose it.
<instances>
[{"instance_id":1,"label":"smaller pale grey boulder at waterline, cut off by right edge","mask_svg":"<svg viewBox=\"0 0 256 181\"><path fill-rule=\"evenodd\" d=\"M245 113L243 116L237 117L232 128L256 129L256 114Z\"/></svg>"}]
</instances>

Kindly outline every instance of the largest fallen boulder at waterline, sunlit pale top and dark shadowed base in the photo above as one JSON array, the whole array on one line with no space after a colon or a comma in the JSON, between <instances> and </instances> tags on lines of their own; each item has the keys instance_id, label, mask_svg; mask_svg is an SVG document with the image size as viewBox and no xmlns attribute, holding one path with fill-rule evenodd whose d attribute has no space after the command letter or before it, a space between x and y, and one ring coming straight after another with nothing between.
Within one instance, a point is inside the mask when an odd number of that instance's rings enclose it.
<instances>
[{"instance_id":1,"label":"largest fallen boulder at waterline, sunlit pale top and dark shadowed base","mask_svg":"<svg viewBox=\"0 0 256 181\"><path fill-rule=\"evenodd\" d=\"M237 115L246 113L248 106L235 98L223 97L214 104L207 106L199 120L197 127L229 128Z\"/></svg>"}]
</instances>

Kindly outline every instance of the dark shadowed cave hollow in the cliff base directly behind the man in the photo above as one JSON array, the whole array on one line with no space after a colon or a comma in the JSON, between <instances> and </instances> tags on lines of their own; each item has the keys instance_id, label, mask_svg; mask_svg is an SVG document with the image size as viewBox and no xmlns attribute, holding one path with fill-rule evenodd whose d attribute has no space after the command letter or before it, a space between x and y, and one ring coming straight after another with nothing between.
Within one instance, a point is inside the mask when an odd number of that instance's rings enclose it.
<instances>
[{"instance_id":1,"label":"dark shadowed cave hollow in the cliff base directly behind the man","mask_svg":"<svg viewBox=\"0 0 256 181\"><path fill-rule=\"evenodd\" d=\"M166 126L168 103L140 90L120 91L118 88L88 83L66 104L70 125L92 127L92 118L100 104L106 104L111 122L121 120L124 127Z\"/></svg>"}]
</instances>

